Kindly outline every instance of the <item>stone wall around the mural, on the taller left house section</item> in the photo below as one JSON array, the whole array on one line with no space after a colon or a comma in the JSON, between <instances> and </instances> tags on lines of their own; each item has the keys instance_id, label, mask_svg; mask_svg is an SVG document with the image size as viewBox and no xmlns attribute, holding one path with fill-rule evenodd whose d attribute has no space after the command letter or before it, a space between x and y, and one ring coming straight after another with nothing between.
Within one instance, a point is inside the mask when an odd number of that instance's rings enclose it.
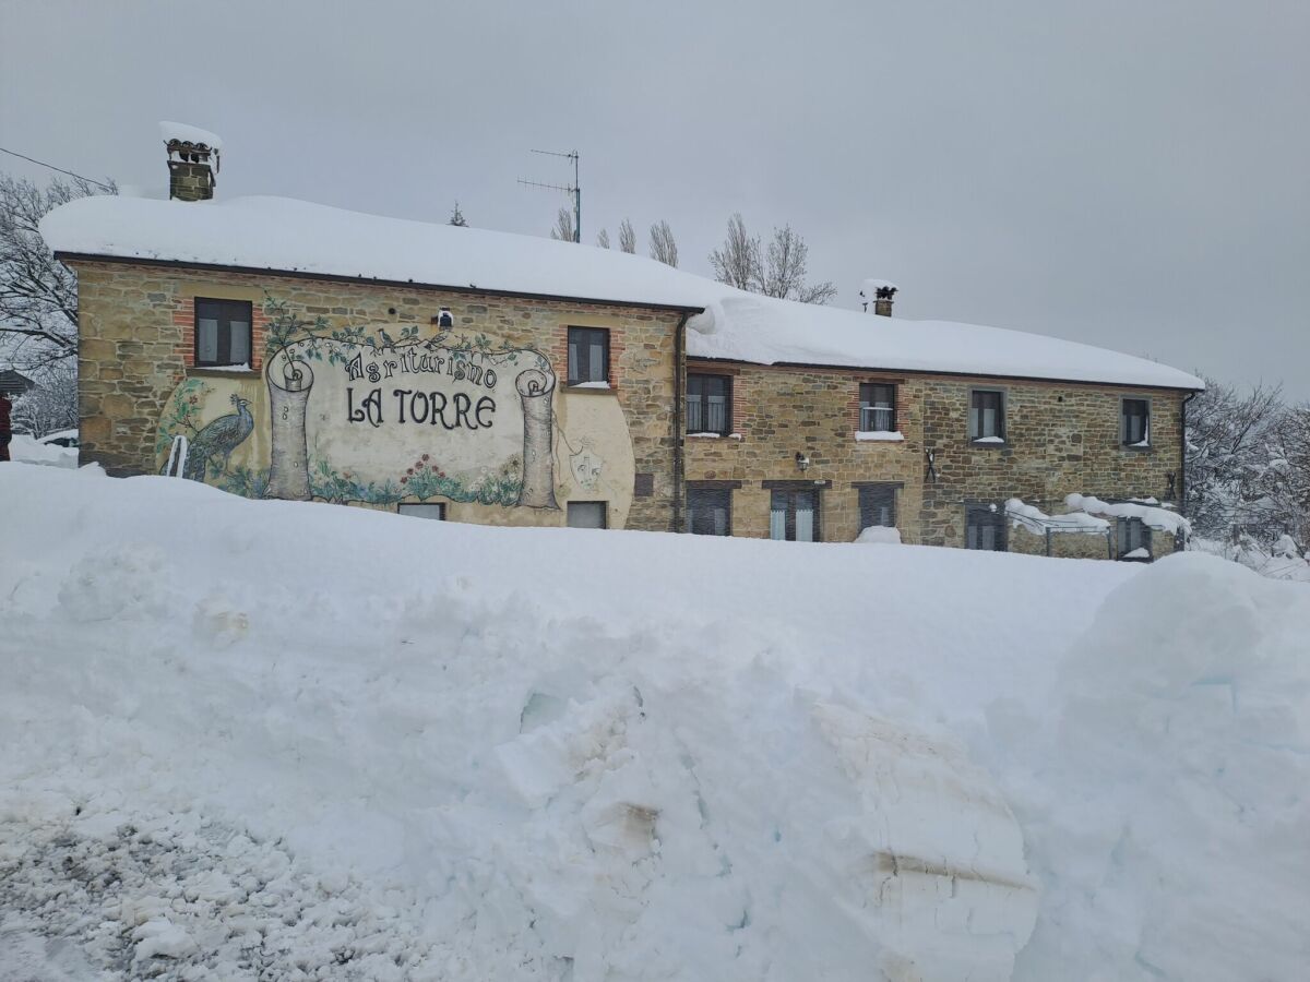
<instances>
[{"instance_id":1,"label":"stone wall around the mural, on the taller left house section","mask_svg":"<svg viewBox=\"0 0 1310 982\"><path fill-rule=\"evenodd\" d=\"M161 456L156 445L160 419L177 386L204 378L220 389L233 389L263 407L261 357L267 319L266 296L287 301L305 318L324 317L329 329L359 325L398 327L418 325L426 334L443 308L455 318L453 330L486 334L508 346L532 347L546 354L561 393L555 412L566 420L612 416L604 402L617 405L631 436L638 486L650 491L617 503L616 524L667 530L673 504L673 336L680 314L672 310L604 304L511 299L479 293L335 283L237 272L166 270L127 263L77 262L81 309L79 391L83 458L100 461L111 474L156 473ZM194 300L215 297L249 300L254 363L250 372L194 367ZM567 327L605 327L610 333L610 389L567 390ZM258 435L258 431L257 431ZM242 448L244 462L261 448L252 439ZM562 453L567 461L567 450ZM631 482L629 482L630 484ZM645 491L645 488L643 488ZM561 507L566 501L561 501ZM523 508L452 504L448 516L489 524L563 524L565 512L525 513Z\"/></svg>"}]
</instances>

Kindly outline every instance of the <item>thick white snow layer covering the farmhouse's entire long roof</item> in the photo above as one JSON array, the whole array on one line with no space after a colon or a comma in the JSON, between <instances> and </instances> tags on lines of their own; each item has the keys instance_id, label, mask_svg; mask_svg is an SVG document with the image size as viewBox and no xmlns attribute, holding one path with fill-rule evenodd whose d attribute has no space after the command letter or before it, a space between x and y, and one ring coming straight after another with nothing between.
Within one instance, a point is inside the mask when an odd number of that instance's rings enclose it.
<instances>
[{"instance_id":1,"label":"thick white snow layer covering the farmhouse's entire long roof","mask_svg":"<svg viewBox=\"0 0 1310 982\"><path fill-rule=\"evenodd\" d=\"M66 254L692 308L703 312L689 321L693 357L1204 388L1155 361L1045 335L798 304L621 251L286 198L81 198L41 232Z\"/></svg>"}]
</instances>

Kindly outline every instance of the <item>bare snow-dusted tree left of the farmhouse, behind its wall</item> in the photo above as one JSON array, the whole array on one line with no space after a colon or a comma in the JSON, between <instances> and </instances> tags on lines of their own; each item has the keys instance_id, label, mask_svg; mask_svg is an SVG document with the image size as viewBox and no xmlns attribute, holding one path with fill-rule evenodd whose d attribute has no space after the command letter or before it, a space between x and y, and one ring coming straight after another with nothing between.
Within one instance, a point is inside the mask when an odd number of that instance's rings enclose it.
<instances>
[{"instance_id":1,"label":"bare snow-dusted tree left of the farmhouse, behind its wall","mask_svg":"<svg viewBox=\"0 0 1310 982\"><path fill-rule=\"evenodd\" d=\"M100 191L81 179L42 189L0 174L0 351L24 371L77 354L77 278L55 259L39 224L52 208L93 194Z\"/></svg>"}]
</instances>

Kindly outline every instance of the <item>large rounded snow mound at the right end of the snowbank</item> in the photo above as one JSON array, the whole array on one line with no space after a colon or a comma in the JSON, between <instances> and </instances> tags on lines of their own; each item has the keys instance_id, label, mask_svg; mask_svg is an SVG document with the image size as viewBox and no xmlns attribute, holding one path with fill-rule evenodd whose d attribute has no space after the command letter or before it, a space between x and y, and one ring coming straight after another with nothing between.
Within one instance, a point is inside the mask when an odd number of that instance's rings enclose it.
<instances>
[{"instance_id":1,"label":"large rounded snow mound at the right end of the snowbank","mask_svg":"<svg viewBox=\"0 0 1310 982\"><path fill-rule=\"evenodd\" d=\"M1015 978L1305 975L1307 639L1305 587L1183 554L1106 600L1049 716L993 707L1044 885Z\"/></svg>"}]
</instances>

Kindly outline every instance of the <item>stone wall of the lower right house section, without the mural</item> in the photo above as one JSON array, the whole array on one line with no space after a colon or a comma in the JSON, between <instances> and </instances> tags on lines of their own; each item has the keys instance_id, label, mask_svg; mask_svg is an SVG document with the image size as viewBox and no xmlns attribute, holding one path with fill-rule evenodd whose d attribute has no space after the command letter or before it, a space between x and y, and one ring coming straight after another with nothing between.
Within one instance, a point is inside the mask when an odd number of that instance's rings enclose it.
<instances>
[{"instance_id":1,"label":"stone wall of the lower right house section, without the mural","mask_svg":"<svg viewBox=\"0 0 1310 982\"><path fill-rule=\"evenodd\" d=\"M891 483L897 526L910 543L963 546L965 503L1003 507L1022 498L1049 515L1070 492L1102 499L1165 500L1182 471L1179 410L1186 393L1121 386L871 373L845 369L743 367L693 360L689 372L732 378L727 437L686 437L689 482L731 482L732 533L766 537L766 482L811 481L821 487L821 538L850 542L859 532L859 486ZM857 437L861 382L892 382L900 441ZM969 440L969 394L1006 394L1006 443ZM1151 402L1151 446L1120 443L1120 399ZM929 469L927 453L933 452ZM800 471L795 454L810 458ZM1028 541L1031 539L1031 541ZM1157 555L1172 537L1155 533ZM1040 554L1045 539L1011 530L1010 549ZM1103 558L1103 537L1056 536L1052 553Z\"/></svg>"}]
</instances>

